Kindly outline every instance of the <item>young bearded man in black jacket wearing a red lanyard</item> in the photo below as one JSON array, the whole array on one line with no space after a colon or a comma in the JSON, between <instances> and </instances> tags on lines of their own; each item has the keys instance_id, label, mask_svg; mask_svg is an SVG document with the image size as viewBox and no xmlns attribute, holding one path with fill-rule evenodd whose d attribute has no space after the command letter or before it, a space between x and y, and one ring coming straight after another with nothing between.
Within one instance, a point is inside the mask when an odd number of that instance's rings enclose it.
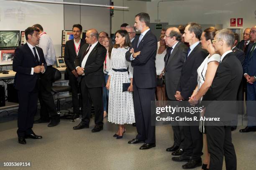
<instances>
[{"instance_id":1,"label":"young bearded man in black jacket wearing a red lanyard","mask_svg":"<svg viewBox=\"0 0 256 170\"><path fill-rule=\"evenodd\" d=\"M79 100L77 95L79 84L77 81L78 74L75 69L74 62L80 52L80 47L84 45L85 41L81 39L82 25L74 24L72 31L74 39L66 42L64 61L67 65L66 73L69 77L69 85L71 86L72 90L73 112L75 114L74 118L77 118L79 116Z\"/></svg>"}]
</instances>

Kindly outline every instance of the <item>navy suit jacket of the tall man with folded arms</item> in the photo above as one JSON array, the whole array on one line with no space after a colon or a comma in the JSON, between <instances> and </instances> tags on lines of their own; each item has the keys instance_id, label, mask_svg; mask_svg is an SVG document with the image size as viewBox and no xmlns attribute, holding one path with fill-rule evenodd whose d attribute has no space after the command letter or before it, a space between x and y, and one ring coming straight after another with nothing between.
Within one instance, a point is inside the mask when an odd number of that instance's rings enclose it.
<instances>
[{"instance_id":1,"label":"navy suit jacket of the tall man with folded arms","mask_svg":"<svg viewBox=\"0 0 256 170\"><path fill-rule=\"evenodd\" d=\"M131 65L133 66L133 80L140 89L154 88L156 87L155 61L157 39L156 36L151 33L151 30L148 30L137 47L138 40L139 36L136 36L132 42L134 52L141 51L140 55L131 61ZM126 52L125 57L127 61L130 61L130 51Z\"/></svg>"}]
</instances>

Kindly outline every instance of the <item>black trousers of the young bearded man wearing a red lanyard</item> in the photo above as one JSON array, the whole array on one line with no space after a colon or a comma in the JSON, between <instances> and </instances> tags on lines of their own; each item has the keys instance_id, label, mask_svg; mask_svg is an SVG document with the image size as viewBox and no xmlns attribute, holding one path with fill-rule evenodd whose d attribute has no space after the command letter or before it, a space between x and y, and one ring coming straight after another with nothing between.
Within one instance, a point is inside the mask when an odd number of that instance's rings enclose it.
<instances>
[{"instance_id":1,"label":"black trousers of the young bearded man wearing a red lanyard","mask_svg":"<svg viewBox=\"0 0 256 170\"><path fill-rule=\"evenodd\" d=\"M71 86L71 91L72 91L73 112L74 114L79 114L78 81L77 81L77 78L74 76L74 74L72 74L72 72L67 71L67 74L69 76L69 86Z\"/></svg>"}]
</instances>

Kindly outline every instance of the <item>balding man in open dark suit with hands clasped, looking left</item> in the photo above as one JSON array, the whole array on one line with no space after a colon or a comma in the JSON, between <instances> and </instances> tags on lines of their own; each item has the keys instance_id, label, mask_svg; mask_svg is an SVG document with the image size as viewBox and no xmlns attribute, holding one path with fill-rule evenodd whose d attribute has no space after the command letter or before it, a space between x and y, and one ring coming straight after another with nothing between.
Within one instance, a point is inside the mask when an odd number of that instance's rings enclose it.
<instances>
[{"instance_id":1,"label":"balding man in open dark suit with hands clasped, looking left","mask_svg":"<svg viewBox=\"0 0 256 170\"><path fill-rule=\"evenodd\" d=\"M99 43L98 38L97 30L88 30L85 38L86 44L81 47L79 59L75 61L77 74L82 77L83 115L80 124L73 129L89 128L92 103L95 109L95 127L92 132L100 132L103 129L102 87L106 86L103 63L107 50Z\"/></svg>"}]
</instances>

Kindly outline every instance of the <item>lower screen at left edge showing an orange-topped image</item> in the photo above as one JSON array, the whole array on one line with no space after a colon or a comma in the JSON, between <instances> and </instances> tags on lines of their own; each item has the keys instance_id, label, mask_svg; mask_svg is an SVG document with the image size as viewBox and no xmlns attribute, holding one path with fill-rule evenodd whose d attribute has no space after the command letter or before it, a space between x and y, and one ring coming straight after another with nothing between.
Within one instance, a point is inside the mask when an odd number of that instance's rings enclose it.
<instances>
[{"instance_id":1,"label":"lower screen at left edge showing an orange-topped image","mask_svg":"<svg viewBox=\"0 0 256 170\"><path fill-rule=\"evenodd\" d=\"M0 49L0 65L11 65L13 64L15 49Z\"/></svg>"}]
</instances>

